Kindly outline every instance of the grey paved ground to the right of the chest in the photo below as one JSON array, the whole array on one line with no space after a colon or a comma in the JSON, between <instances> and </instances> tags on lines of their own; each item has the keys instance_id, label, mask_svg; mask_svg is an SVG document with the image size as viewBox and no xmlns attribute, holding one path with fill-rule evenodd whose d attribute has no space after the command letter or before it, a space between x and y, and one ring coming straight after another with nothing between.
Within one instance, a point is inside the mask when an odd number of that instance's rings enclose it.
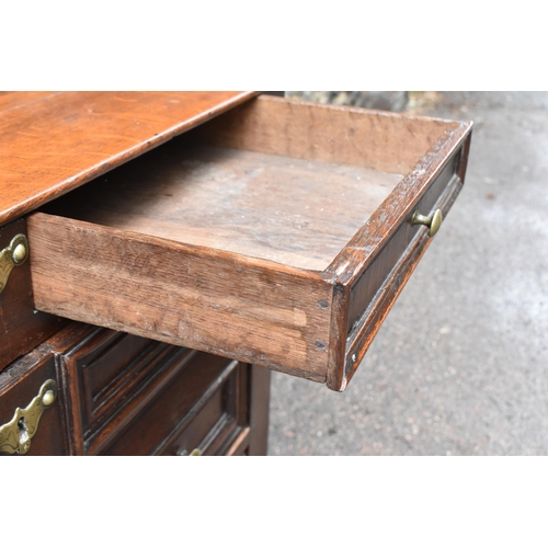
<instances>
[{"instance_id":1,"label":"grey paved ground to the right of the chest","mask_svg":"<svg viewBox=\"0 0 548 548\"><path fill-rule=\"evenodd\" d=\"M345 392L272 374L271 455L548 454L548 93L418 99L465 189Z\"/></svg>"}]
</instances>

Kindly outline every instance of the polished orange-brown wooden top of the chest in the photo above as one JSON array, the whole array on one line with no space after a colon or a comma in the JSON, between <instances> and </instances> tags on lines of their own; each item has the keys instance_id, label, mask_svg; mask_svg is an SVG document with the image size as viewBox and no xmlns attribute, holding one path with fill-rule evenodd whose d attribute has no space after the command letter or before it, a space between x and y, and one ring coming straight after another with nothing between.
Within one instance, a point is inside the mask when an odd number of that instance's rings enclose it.
<instances>
[{"instance_id":1,"label":"polished orange-brown wooden top of the chest","mask_svg":"<svg viewBox=\"0 0 548 548\"><path fill-rule=\"evenodd\" d=\"M0 226L255 92L0 92Z\"/></svg>"}]
</instances>

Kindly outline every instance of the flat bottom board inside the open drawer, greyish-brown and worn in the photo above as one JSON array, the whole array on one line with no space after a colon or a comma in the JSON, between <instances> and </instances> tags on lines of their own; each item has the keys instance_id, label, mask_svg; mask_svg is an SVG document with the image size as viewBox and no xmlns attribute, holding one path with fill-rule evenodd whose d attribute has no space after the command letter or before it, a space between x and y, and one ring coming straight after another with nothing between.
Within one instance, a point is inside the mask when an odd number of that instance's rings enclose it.
<instances>
[{"instance_id":1,"label":"flat bottom board inside the open drawer, greyish-brown and worn","mask_svg":"<svg viewBox=\"0 0 548 548\"><path fill-rule=\"evenodd\" d=\"M402 179L368 168L193 146L191 137L44 210L323 271Z\"/></svg>"}]
</instances>

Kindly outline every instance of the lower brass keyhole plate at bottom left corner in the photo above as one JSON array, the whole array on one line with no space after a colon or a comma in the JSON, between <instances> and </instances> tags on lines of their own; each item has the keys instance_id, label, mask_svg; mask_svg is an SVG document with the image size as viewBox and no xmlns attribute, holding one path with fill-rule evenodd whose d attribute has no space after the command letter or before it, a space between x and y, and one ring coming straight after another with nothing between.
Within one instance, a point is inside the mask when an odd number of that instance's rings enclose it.
<instances>
[{"instance_id":1,"label":"lower brass keyhole plate at bottom left corner","mask_svg":"<svg viewBox=\"0 0 548 548\"><path fill-rule=\"evenodd\" d=\"M46 380L25 409L18 408L13 419L0 426L0 453L24 455L31 448L31 439L38 430L42 413L52 407L57 398L57 383Z\"/></svg>"}]
</instances>

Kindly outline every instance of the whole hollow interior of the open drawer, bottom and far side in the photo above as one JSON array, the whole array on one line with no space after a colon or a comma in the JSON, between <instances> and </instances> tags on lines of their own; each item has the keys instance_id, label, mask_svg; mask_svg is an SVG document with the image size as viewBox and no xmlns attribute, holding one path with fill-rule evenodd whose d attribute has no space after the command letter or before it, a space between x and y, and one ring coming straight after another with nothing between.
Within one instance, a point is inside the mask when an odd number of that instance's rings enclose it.
<instances>
[{"instance_id":1,"label":"whole hollow interior of the open drawer, bottom and far side","mask_svg":"<svg viewBox=\"0 0 548 548\"><path fill-rule=\"evenodd\" d=\"M323 271L444 129L260 98L44 210Z\"/></svg>"}]
</instances>

